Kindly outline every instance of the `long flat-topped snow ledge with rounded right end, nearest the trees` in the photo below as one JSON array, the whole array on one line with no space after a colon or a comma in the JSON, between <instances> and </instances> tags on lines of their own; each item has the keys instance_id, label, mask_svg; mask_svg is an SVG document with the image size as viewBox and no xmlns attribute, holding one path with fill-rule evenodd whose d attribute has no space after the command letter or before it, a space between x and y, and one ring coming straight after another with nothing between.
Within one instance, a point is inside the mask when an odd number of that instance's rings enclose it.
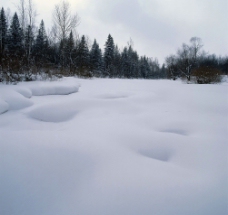
<instances>
[{"instance_id":1,"label":"long flat-topped snow ledge with rounded right end, nearest the trees","mask_svg":"<svg viewBox=\"0 0 228 215\"><path fill-rule=\"evenodd\" d=\"M40 83L29 87L33 96L68 95L78 92L79 85L61 83Z\"/></svg>"}]
</instances>

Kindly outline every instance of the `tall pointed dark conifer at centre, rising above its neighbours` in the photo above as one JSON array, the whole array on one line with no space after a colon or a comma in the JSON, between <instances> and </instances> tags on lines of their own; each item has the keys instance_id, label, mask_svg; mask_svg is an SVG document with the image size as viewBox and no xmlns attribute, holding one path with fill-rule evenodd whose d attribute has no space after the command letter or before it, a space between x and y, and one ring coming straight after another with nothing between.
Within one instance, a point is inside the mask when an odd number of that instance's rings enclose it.
<instances>
[{"instance_id":1,"label":"tall pointed dark conifer at centre, rising above its neighbours","mask_svg":"<svg viewBox=\"0 0 228 215\"><path fill-rule=\"evenodd\" d=\"M104 51L104 66L107 74L113 76L113 61L114 61L114 41L112 36L109 34L108 39L105 43Z\"/></svg>"}]
</instances>

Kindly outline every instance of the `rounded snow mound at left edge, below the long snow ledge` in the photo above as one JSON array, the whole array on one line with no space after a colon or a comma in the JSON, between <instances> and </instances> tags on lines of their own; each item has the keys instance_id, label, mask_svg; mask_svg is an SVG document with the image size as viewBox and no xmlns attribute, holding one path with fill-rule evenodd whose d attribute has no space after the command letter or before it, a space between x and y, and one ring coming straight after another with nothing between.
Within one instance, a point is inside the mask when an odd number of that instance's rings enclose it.
<instances>
[{"instance_id":1,"label":"rounded snow mound at left edge, below the long snow ledge","mask_svg":"<svg viewBox=\"0 0 228 215\"><path fill-rule=\"evenodd\" d=\"M33 102L14 90L2 90L2 99L8 104L8 110L19 110L33 105ZM5 106L6 107L6 106Z\"/></svg>"}]
</instances>

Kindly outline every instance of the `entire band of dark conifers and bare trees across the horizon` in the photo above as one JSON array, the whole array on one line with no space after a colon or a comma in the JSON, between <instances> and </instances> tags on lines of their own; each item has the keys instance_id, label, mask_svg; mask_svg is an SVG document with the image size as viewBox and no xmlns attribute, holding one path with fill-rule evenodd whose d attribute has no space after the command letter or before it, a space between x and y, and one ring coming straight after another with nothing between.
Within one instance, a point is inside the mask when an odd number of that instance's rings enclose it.
<instances>
[{"instance_id":1,"label":"entire band of dark conifers and bare trees across the horizon","mask_svg":"<svg viewBox=\"0 0 228 215\"><path fill-rule=\"evenodd\" d=\"M91 43L89 36L79 36L80 17L71 14L68 2L55 5L48 32L43 20L35 25L36 14L31 0L26 5L21 0L12 16L1 8L0 82L78 76L216 83L228 74L228 56L208 54L198 37L160 65L156 58L139 56L132 40L120 49L109 34L102 50L96 39Z\"/></svg>"}]
</instances>

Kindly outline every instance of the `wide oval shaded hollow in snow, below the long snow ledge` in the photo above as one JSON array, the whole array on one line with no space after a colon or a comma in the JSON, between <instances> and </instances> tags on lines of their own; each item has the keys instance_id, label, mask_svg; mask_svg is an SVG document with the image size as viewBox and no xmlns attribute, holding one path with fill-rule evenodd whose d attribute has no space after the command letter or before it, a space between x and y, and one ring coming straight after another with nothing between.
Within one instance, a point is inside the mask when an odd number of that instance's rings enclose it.
<instances>
[{"instance_id":1,"label":"wide oval shaded hollow in snow, below the long snow ledge","mask_svg":"<svg viewBox=\"0 0 228 215\"><path fill-rule=\"evenodd\" d=\"M69 109L67 105L45 105L35 107L28 116L43 122L65 122L74 117L76 110Z\"/></svg>"}]
</instances>

